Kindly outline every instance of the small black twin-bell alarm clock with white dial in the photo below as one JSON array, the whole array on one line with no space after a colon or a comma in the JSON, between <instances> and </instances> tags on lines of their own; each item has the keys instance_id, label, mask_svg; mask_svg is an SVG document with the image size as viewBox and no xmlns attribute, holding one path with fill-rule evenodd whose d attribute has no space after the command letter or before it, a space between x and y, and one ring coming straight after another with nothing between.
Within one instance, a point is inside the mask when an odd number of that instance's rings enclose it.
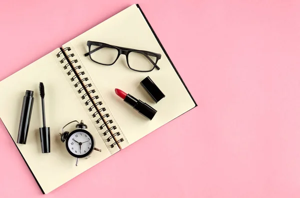
<instances>
[{"instance_id":1,"label":"small black twin-bell alarm clock with white dial","mask_svg":"<svg viewBox=\"0 0 300 198\"><path fill-rule=\"evenodd\" d=\"M63 131L66 126L74 122L77 123L74 131ZM89 156L93 150L101 152L100 149L94 148L94 139L86 129L87 126L82 120L80 122L73 120L64 125L61 130L62 133L59 133L61 142L65 142L67 152L76 158L76 166L78 165L79 158Z\"/></svg>"}]
</instances>

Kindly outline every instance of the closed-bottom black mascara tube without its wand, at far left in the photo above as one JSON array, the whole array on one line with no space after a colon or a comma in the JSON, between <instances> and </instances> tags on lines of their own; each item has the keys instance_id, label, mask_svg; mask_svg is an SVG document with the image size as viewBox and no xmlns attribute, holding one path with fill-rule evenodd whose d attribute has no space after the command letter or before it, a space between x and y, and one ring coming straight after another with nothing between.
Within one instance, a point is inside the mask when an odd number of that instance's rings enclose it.
<instances>
[{"instance_id":1,"label":"closed-bottom black mascara tube without its wand, at far left","mask_svg":"<svg viewBox=\"0 0 300 198\"><path fill-rule=\"evenodd\" d=\"M26 144L27 134L29 129L31 111L33 106L33 91L26 90L23 97L23 104L21 109L21 117L19 123L19 130L17 134L17 143Z\"/></svg>"}]
</instances>

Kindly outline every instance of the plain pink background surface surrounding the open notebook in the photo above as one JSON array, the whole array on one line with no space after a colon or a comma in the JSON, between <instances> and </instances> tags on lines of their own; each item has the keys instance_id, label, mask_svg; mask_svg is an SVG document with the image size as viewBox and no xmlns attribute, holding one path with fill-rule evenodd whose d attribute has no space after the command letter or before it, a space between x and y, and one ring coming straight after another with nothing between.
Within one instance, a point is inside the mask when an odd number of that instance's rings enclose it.
<instances>
[{"instance_id":1,"label":"plain pink background surface surrounding the open notebook","mask_svg":"<svg viewBox=\"0 0 300 198\"><path fill-rule=\"evenodd\" d=\"M133 3L198 107L45 196L0 124L0 197L299 198L299 1L2 0L0 80Z\"/></svg>"}]
</instances>

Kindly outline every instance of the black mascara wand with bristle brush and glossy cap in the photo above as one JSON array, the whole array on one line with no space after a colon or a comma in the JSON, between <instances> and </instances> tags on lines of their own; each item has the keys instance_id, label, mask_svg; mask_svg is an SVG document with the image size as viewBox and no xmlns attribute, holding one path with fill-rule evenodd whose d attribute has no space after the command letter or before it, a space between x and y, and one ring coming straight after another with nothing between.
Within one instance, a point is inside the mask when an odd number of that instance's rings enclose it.
<instances>
[{"instance_id":1,"label":"black mascara wand with bristle brush and glossy cap","mask_svg":"<svg viewBox=\"0 0 300 198\"><path fill-rule=\"evenodd\" d=\"M46 127L45 115L45 88L42 82L39 83L39 95L41 98L41 114L42 114L42 127L39 128L40 145L42 153L50 153L50 127Z\"/></svg>"}]
</instances>

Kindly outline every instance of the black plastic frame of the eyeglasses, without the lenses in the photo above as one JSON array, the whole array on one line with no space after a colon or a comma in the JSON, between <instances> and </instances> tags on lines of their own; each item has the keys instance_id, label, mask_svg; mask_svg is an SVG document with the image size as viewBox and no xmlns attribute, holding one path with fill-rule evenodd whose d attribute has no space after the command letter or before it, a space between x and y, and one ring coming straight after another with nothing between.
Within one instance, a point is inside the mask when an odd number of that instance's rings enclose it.
<instances>
[{"instance_id":1,"label":"black plastic frame of the eyeglasses, without the lenses","mask_svg":"<svg viewBox=\"0 0 300 198\"><path fill-rule=\"evenodd\" d=\"M117 59L119 58L119 56L121 54L124 54L126 56L127 66L130 69L134 70L134 71L149 72L149 71L152 71L154 68L156 68L157 70L160 69L157 66L157 62L161 58L161 54L158 54L158 53L154 53L154 52L151 52L151 51L145 51L145 50L131 49L131 48L127 48L127 47L119 47L119 46L110 45L110 44L103 43L103 42L90 41L90 40L87 41L86 45L88 46L88 52L85 53L84 56L89 56L89 58L92 61L94 61L94 62L96 62L98 64L101 64L101 65L113 65L117 61ZM95 48L95 49L93 49L93 50L90 51L90 46L91 45L95 45L95 46L99 46L99 47L97 47L97 48ZM99 50L99 49L101 49L103 47L114 48L114 49L117 49L117 51L118 51L118 54L117 54L115 60L111 64L104 64L104 63L97 62L94 59L92 59L92 57L90 56L90 54L92 54L93 52L95 52L95 51L97 51L97 50ZM136 70L136 69L131 68L130 65L129 65L129 62L128 62L128 54L130 52L136 52L136 53L140 53L140 54L144 55L151 62L151 64L153 65L152 69L147 70L147 71L141 71L141 70ZM155 62L149 57L149 55L153 56L153 57L156 57Z\"/></svg>"}]
</instances>

